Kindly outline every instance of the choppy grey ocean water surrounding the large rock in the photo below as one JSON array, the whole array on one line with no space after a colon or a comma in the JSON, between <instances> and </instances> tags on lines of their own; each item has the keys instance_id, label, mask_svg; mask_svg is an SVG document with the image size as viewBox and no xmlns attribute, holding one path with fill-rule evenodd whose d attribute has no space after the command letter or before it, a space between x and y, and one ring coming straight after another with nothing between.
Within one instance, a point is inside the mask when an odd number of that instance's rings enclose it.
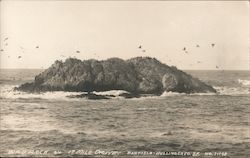
<instances>
[{"instance_id":1,"label":"choppy grey ocean water surrounding the large rock","mask_svg":"<svg viewBox=\"0 0 250 158\"><path fill-rule=\"evenodd\" d=\"M250 73L186 71L217 94L110 100L13 88L43 70L0 70L0 156L250 157Z\"/></svg>"}]
</instances>

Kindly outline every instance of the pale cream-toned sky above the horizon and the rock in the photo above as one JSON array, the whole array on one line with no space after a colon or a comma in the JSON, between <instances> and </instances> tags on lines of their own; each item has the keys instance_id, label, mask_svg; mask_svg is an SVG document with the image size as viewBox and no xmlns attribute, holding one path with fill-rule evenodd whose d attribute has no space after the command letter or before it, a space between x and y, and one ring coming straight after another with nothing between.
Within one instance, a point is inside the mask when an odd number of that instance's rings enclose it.
<instances>
[{"instance_id":1,"label":"pale cream-toned sky above the horizon and the rock","mask_svg":"<svg viewBox=\"0 0 250 158\"><path fill-rule=\"evenodd\" d=\"M186 70L250 70L248 1L2 0L0 14L0 68L149 56Z\"/></svg>"}]
</instances>

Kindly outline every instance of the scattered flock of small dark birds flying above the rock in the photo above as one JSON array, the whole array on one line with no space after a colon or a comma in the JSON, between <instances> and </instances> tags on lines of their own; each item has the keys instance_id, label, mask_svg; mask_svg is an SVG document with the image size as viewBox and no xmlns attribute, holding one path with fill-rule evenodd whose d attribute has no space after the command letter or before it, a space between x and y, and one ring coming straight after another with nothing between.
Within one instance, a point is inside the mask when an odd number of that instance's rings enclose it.
<instances>
[{"instance_id":1,"label":"scattered flock of small dark birds flying above the rock","mask_svg":"<svg viewBox=\"0 0 250 158\"><path fill-rule=\"evenodd\" d=\"M3 45L4 45L4 46L8 46L8 39L9 39L8 37L4 38L4 40L3 40ZM196 47L199 48L200 45L199 45L199 44L196 44ZM212 48L215 47L215 43L211 43L211 47L212 47ZM39 46L36 46L35 48L36 48L36 49L39 49L40 47L39 47ZM20 46L20 49L22 50L22 52L24 52L24 48L23 48L22 46ZM138 49L141 50L141 52L146 52L146 49L144 49L142 45L139 45L139 46L138 46ZM189 51L187 50L187 47L184 47L184 48L182 49L182 51L183 51L185 54L188 54L188 53L189 53ZM4 52L4 49L0 49L0 52ZM75 53L79 54L79 53L81 53L81 51L76 50ZM94 53L94 54L96 55L96 53ZM61 57L66 57L66 56L64 56L64 55L60 55L60 56L61 56ZM9 57L10 57L10 56L8 56L8 58L9 58ZM18 55L17 58L18 58L18 59L21 59L22 56L21 56L21 55ZM169 61L171 61L171 60L169 60ZM201 62L201 61L197 61L197 63L200 64L200 63L202 63L202 62ZM216 65L215 68L216 68L216 69L219 69L219 66Z\"/></svg>"}]
</instances>

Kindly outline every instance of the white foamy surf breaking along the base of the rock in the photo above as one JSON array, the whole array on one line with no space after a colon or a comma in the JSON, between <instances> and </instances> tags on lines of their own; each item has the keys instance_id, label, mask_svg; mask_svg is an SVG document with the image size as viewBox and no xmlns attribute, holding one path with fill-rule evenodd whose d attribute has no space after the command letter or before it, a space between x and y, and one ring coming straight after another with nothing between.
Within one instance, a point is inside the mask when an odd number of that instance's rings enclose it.
<instances>
[{"instance_id":1,"label":"white foamy surf breaking along the base of the rock","mask_svg":"<svg viewBox=\"0 0 250 158\"><path fill-rule=\"evenodd\" d=\"M15 91L14 88L17 85L2 85L0 87L0 97L1 98L9 98L9 99L64 99L64 100L79 100L84 98L69 98L68 96L74 95L81 95L86 92L65 92L65 91L54 91L54 92L44 92L44 93L26 93L21 91ZM171 97L171 96L205 96L205 95L249 95L250 88L249 87L228 87L228 86L214 86L217 93L178 93L178 92L163 92L160 96L154 95L142 95L139 98L134 99L154 99L154 98L164 98L164 97ZM120 95L122 94L129 94L127 91L123 90L111 90L111 91L103 91L103 92L93 92L96 95L103 95L103 96L112 96L110 98L117 99L117 98L124 98Z\"/></svg>"}]
</instances>

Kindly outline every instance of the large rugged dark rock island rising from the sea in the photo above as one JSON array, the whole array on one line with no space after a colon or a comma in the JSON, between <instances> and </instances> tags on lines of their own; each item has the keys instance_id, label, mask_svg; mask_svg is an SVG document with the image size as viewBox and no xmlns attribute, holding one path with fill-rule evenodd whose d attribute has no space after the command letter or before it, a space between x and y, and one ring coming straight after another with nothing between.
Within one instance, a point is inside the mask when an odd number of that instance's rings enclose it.
<instances>
[{"instance_id":1,"label":"large rugged dark rock island rising from the sea","mask_svg":"<svg viewBox=\"0 0 250 158\"><path fill-rule=\"evenodd\" d=\"M176 67L169 67L150 57L55 61L37 75L34 82L16 89L27 92L125 90L131 94L216 92L213 87Z\"/></svg>"}]
</instances>

